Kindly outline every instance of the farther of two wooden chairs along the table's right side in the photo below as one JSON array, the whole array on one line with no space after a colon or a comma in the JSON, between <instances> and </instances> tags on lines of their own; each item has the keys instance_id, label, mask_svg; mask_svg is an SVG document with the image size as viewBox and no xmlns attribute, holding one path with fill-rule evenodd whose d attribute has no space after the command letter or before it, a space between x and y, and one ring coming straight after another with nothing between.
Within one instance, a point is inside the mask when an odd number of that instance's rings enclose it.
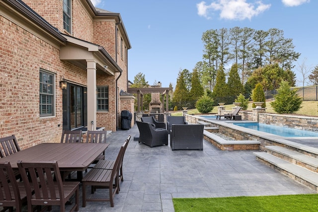
<instances>
[{"instance_id":1,"label":"farther of two wooden chairs along the table's right side","mask_svg":"<svg viewBox=\"0 0 318 212\"><path fill-rule=\"evenodd\" d=\"M120 159L119 168L118 168L118 174L117 174L117 184L118 184L118 191L120 191L119 181L124 181L124 175L123 175L123 160L124 155L128 146L128 143L130 141L131 135L128 136L126 139L127 144L124 147L124 153ZM93 169L108 169L112 170L114 169L115 160L100 160L98 163L93 167Z\"/></svg>"}]
</instances>

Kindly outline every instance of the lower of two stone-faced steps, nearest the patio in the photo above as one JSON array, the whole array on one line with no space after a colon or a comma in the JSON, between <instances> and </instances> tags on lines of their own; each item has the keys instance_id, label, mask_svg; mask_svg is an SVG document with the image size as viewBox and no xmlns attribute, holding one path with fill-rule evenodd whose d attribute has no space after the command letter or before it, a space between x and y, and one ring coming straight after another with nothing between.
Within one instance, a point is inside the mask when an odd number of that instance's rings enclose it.
<instances>
[{"instance_id":1,"label":"lower of two stone-faced steps, nearest the patio","mask_svg":"<svg viewBox=\"0 0 318 212\"><path fill-rule=\"evenodd\" d=\"M271 155L267 152L253 152L256 158L266 165L273 167L288 177L318 191L318 173L310 171L302 166L290 163L284 159Z\"/></svg>"}]
</instances>

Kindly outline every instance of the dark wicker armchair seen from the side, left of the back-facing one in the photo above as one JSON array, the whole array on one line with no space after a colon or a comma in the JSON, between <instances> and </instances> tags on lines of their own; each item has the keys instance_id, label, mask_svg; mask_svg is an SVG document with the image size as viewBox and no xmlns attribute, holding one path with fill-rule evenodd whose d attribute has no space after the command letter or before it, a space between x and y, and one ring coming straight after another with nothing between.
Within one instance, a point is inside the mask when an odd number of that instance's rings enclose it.
<instances>
[{"instance_id":1,"label":"dark wicker armchair seen from the side, left of the back-facing one","mask_svg":"<svg viewBox=\"0 0 318 212\"><path fill-rule=\"evenodd\" d=\"M136 121L139 129L139 141L149 145L150 147L158 145L168 145L168 131L164 129L156 130L155 127L148 122Z\"/></svg>"}]
</instances>

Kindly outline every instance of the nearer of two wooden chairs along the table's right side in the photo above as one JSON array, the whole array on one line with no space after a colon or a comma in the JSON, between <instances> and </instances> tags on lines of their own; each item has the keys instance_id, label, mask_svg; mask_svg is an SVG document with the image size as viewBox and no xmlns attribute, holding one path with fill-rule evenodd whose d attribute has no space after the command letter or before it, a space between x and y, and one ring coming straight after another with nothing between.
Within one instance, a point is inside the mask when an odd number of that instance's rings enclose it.
<instances>
[{"instance_id":1,"label":"nearer of two wooden chairs along the table's right side","mask_svg":"<svg viewBox=\"0 0 318 212\"><path fill-rule=\"evenodd\" d=\"M91 169L82 179L82 207L86 207L86 202L110 202L110 206L114 207L114 196L118 194L118 168L122 154L124 154L125 146L127 141L120 147L120 151L115 160L113 169ZM97 198L91 196L91 198L86 198L86 186L91 186L91 193L93 194L96 189L108 189L109 199L107 198Z\"/></svg>"}]
</instances>

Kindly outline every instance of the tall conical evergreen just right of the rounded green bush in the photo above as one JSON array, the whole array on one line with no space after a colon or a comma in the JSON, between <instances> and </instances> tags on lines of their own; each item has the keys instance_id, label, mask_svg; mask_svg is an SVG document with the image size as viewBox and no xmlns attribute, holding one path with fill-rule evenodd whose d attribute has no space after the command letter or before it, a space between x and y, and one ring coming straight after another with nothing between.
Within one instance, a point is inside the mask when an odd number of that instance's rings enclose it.
<instances>
[{"instance_id":1,"label":"tall conical evergreen just right of the rounded green bush","mask_svg":"<svg viewBox=\"0 0 318 212\"><path fill-rule=\"evenodd\" d=\"M228 86L225 82L225 73L223 71L222 66L220 66L220 69L217 73L217 79L216 84L214 86L213 92L212 92L213 99L215 100L215 103L218 104L219 102L225 102L226 104L232 104L231 101L228 100Z\"/></svg>"}]
</instances>

